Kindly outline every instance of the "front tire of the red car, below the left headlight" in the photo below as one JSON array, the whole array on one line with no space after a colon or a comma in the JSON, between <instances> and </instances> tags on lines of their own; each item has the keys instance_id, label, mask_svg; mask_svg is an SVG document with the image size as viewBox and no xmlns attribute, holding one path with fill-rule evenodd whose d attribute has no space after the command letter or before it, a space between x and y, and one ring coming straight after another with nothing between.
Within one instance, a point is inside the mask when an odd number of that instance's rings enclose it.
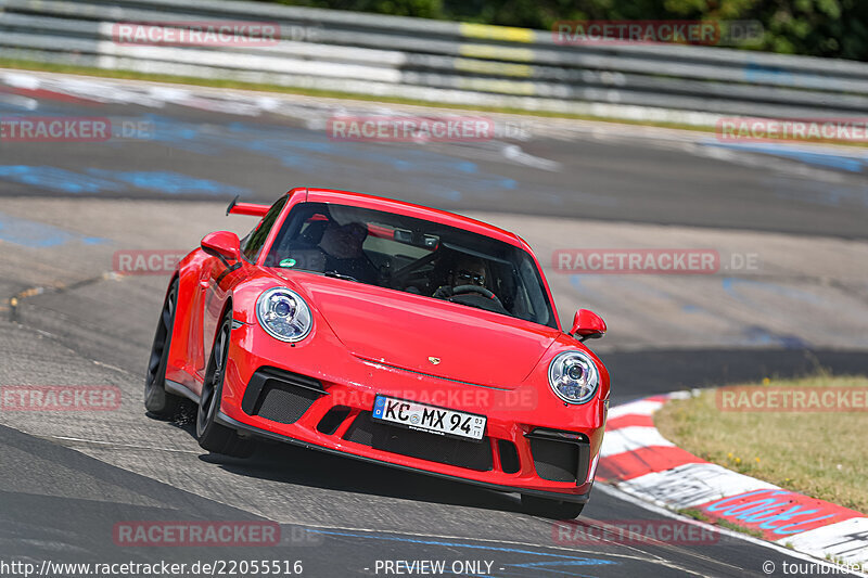
<instances>
[{"instance_id":1,"label":"front tire of the red car, below the left headlight","mask_svg":"<svg viewBox=\"0 0 868 578\"><path fill-rule=\"evenodd\" d=\"M226 378L226 362L229 359L229 339L232 331L232 310L227 311L214 339L208 368L205 371L205 383L202 384L202 396L196 413L196 438L199 445L210 452L224 453L235 458L247 458L253 453L255 444L252 439L242 439L238 432L216 422L220 411Z\"/></svg>"}]
</instances>

